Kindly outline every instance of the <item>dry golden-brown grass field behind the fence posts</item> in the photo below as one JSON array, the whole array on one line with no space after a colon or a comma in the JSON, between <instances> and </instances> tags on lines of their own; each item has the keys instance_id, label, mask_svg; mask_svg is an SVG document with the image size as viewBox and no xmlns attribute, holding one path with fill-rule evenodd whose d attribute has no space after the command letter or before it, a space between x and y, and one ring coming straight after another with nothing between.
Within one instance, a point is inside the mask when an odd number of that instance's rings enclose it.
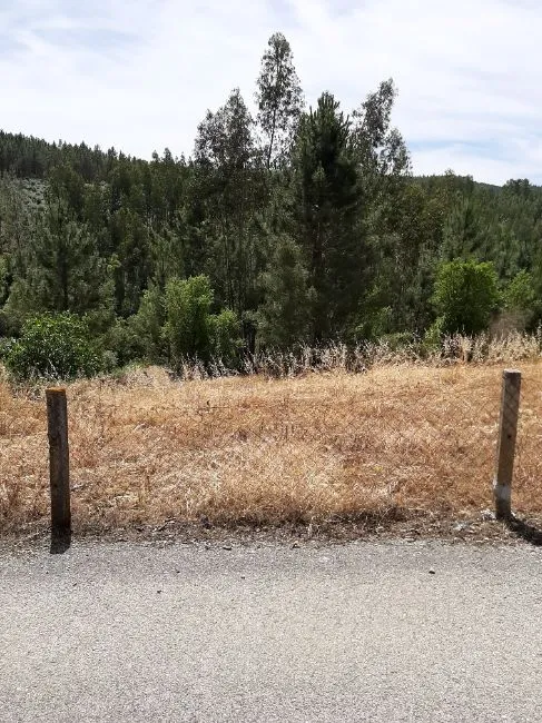
<instances>
[{"instance_id":1,"label":"dry golden-brown grass field behind the fence posts","mask_svg":"<svg viewBox=\"0 0 542 723\"><path fill-rule=\"evenodd\" d=\"M175 382L161 369L68 386L76 531L166 521L307 525L491 507L503 364L382 365ZM513 493L542 513L542 364L525 361ZM0 384L0 526L48 524L45 387Z\"/></svg>"}]
</instances>

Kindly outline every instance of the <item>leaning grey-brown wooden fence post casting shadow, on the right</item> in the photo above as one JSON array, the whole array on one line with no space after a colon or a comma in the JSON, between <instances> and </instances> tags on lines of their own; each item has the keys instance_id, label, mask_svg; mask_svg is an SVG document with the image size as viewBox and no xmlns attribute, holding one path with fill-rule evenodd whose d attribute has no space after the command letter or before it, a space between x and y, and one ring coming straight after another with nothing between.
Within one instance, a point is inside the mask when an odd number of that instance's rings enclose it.
<instances>
[{"instance_id":1,"label":"leaning grey-brown wooden fence post casting shadow, on the right","mask_svg":"<svg viewBox=\"0 0 542 723\"><path fill-rule=\"evenodd\" d=\"M514 472L515 437L520 410L521 372L504 369L502 380L496 469L493 481L495 516L497 519L512 517L512 476Z\"/></svg>"}]
</instances>

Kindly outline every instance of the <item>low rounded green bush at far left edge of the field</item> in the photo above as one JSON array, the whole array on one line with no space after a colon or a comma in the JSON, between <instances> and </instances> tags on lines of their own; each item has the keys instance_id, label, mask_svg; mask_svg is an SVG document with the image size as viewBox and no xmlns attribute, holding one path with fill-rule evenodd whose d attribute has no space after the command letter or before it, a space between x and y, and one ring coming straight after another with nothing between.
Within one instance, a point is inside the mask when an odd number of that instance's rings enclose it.
<instances>
[{"instance_id":1,"label":"low rounded green bush at far left edge of the field","mask_svg":"<svg viewBox=\"0 0 542 723\"><path fill-rule=\"evenodd\" d=\"M65 313L28 319L6 355L6 366L17 379L70 379L92 376L102 364L86 319Z\"/></svg>"}]
</instances>

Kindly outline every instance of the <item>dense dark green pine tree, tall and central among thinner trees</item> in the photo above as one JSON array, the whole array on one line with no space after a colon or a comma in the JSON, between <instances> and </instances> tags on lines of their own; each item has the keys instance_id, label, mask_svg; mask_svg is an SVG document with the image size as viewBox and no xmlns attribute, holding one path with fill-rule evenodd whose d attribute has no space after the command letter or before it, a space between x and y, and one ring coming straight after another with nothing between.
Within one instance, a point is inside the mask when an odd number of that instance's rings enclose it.
<instances>
[{"instance_id":1,"label":"dense dark green pine tree, tall and central among thinner trees","mask_svg":"<svg viewBox=\"0 0 542 723\"><path fill-rule=\"evenodd\" d=\"M315 290L312 337L341 334L363 293L363 230L351 121L325 92L300 120L294 155L296 239Z\"/></svg>"}]
</instances>

